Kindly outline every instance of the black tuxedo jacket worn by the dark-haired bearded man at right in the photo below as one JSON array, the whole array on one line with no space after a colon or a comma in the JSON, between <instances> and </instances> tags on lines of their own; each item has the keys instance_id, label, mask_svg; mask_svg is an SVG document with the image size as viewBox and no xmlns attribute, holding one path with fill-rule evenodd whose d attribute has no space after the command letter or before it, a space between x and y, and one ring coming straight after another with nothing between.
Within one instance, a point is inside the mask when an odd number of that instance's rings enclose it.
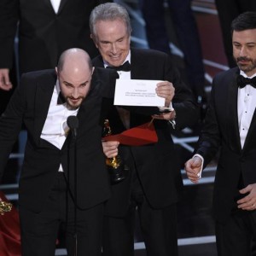
<instances>
[{"instance_id":1,"label":"black tuxedo jacket worn by the dark-haired bearded man at right","mask_svg":"<svg viewBox=\"0 0 256 256\"><path fill-rule=\"evenodd\" d=\"M256 113L241 149L237 117L237 67L219 73L212 82L212 99L196 153L207 166L220 147L213 193L213 212L224 222L236 207L240 178L243 186L256 183ZM252 88L253 89L253 88Z\"/></svg>"}]
</instances>

